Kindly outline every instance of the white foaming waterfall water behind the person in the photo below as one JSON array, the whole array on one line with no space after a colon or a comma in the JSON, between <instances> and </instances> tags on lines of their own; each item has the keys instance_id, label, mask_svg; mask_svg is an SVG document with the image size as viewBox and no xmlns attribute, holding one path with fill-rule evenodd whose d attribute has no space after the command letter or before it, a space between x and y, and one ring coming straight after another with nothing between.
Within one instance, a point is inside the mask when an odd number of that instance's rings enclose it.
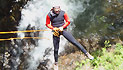
<instances>
[{"instance_id":1,"label":"white foaming waterfall water behind the person","mask_svg":"<svg viewBox=\"0 0 123 70\"><path fill-rule=\"evenodd\" d=\"M80 12L83 12L85 10L82 6L82 1L75 2L74 0L71 0L71 2L69 2L66 0L32 0L28 2L24 9L22 9L22 18L18 30L25 30L29 24L31 24L31 26L35 26L37 29L48 30L48 28L45 26L46 15L54 4L60 5L61 9L68 13L71 22L73 22L74 18L76 18ZM51 52L50 56L43 58L44 51L46 50L46 48L53 48L52 32L40 32L40 35L41 37L47 37L50 40L39 40L38 47L34 48L31 52L29 52L31 58L28 59L28 70L36 70L37 66L39 65L39 62L46 58L54 62L53 51ZM18 33L18 36L24 37L25 35L24 33ZM61 38L62 39L60 41L59 53L64 50L64 45L67 43L67 41L63 37Z\"/></svg>"}]
</instances>

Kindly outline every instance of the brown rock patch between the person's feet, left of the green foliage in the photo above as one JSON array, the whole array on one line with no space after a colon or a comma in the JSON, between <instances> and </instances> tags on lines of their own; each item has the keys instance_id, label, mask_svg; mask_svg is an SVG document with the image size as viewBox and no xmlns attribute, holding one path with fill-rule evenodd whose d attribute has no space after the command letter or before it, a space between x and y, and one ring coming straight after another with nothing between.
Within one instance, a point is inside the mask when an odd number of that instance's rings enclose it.
<instances>
[{"instance_id":1,"label":"brown rock patch between the person's feet, left of the green foliage","mask_svg":"<svg viewBox=\"0 0 123 70\"><path fill-rule=\"evenodd\" d=\"M81 51L76 51L71 54L63 55L59 57L59 69L60 70L75 70L76 62L81 62L86 59Z\"/></svg>"}]
</instances>

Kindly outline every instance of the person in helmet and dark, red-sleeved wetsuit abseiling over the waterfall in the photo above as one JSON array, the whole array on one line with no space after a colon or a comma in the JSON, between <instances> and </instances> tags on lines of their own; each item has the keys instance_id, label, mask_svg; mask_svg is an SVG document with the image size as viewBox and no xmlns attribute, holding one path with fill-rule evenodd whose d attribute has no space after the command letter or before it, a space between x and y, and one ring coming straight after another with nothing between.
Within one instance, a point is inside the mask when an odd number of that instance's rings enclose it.
<instances>
[{"instance_id":1,"label":"person in helmet and dark, red-sleeved wetsuit abseiling over the waterfall","mask_svg":"<svg viewBox=\"0 0 123 70\"><path fill-rule=\"evenodd\" d=\"M64 22L64 20L66 22ZM77 46L89 59L94 59L94 57L90 55L79 42L76 41L72 34L67 31L67 26L69 24L70 19L67 13L61 10L60 6L53 6L53 8L46 16L46 26L53 31L55 65L58 65L60 35L63 35L69 42Z\"/></svg>"}]
</instances>

